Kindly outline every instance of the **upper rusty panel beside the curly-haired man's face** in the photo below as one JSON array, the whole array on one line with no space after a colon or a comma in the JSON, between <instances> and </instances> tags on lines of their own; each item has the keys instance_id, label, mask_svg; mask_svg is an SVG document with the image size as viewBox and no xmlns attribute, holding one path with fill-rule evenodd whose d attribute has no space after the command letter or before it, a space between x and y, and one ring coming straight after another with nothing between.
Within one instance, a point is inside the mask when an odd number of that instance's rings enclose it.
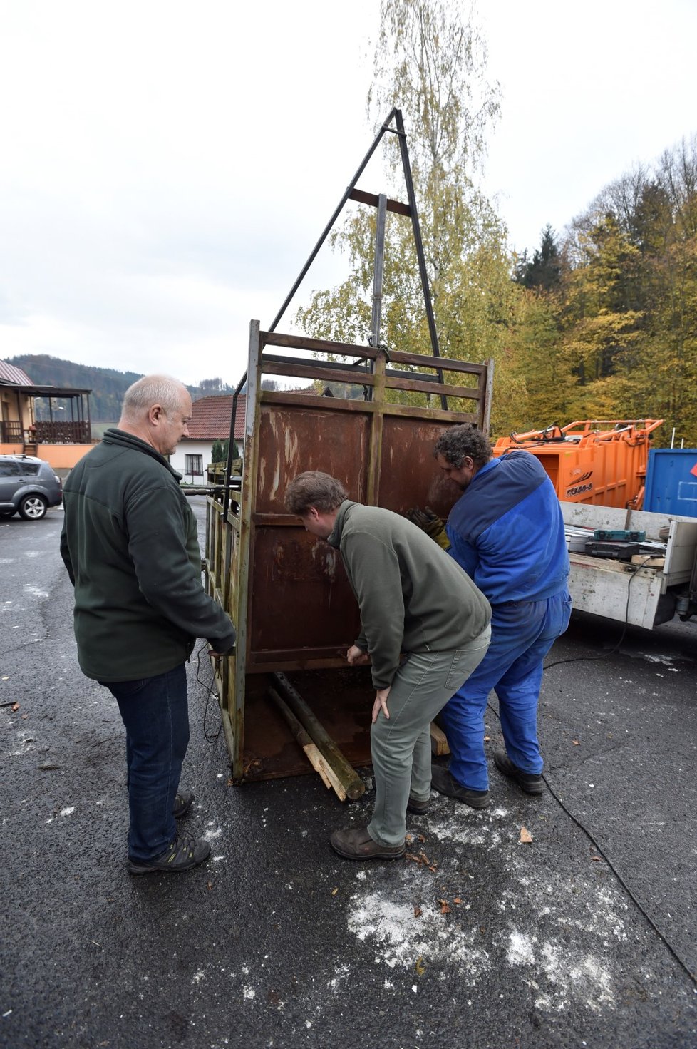
<instances>
[{"instance_id":1,"label":"upper rusty panel beside the curly-haired man's face","mask_svg":"<svg viewBox=\"0 0 697 1049\"><path fill-rule=\"evenodd\" d=\"M378 505L397 514L431 507L446 517L460 494L443 478L433 446L445 427L440 422L386 415L379 471Z\"/></svg>"}]
</instances>

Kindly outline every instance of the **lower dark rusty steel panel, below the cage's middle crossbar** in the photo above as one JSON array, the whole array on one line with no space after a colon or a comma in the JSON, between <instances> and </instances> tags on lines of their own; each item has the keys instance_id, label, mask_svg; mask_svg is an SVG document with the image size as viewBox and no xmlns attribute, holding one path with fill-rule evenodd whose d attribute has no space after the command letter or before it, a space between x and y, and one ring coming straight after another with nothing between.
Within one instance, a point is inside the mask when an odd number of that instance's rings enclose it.
<instances>
[{"instance_id":1,"label":"lower dark rusty steel panel, below the cage's middle crossbar","mask_svg":"<svg viewBox=\"0 0 697 1049\"><path fill-rule=\"evenodd\" d=\"M360 619L337 550L302 526L257 528L252 573L251 655L346 655Z\"/></svg>"}]
</instances>

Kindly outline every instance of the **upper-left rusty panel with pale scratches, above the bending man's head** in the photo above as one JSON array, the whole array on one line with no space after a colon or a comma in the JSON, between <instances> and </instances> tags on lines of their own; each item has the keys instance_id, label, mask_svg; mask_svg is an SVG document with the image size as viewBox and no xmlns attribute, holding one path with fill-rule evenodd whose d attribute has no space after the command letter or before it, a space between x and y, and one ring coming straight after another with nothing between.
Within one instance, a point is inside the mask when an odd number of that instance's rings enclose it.
<instances>
[{"instance_id":1,"label":"upper-left rusty panel with pale scratches, above the bending man's head","mask_svg":"<svg viewBox=\"0 0 697 1049\"><path fill-rule=\"evenodd\" d=\"M317 400L317 408L261 404L257 513L284 513L288 481L303 470L323 470L365 499L370 413L331 411L323 407L329 398Z\"/></svg>"}]
</instances>

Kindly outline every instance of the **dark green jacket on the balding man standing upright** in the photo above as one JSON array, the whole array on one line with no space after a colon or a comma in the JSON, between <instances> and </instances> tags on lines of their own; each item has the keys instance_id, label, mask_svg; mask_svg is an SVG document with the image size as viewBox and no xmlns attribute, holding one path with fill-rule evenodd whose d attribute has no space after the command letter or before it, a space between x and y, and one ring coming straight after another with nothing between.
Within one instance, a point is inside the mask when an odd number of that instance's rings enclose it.
<instances>
[{"instance_id":1,"label":"dark green jacket on the balding man standing upright","mask_svg":"<svg viewBox=\"0 0 697 1049\"><path fill-rule=\"evenodd\" d=\"M179 476L145 441L109 429L65 483L61 555L88 678L166 673L189 659L196 638L219 652L235 644L232 621L201 584L196 518Z\"/></svg>"}]
</instances>

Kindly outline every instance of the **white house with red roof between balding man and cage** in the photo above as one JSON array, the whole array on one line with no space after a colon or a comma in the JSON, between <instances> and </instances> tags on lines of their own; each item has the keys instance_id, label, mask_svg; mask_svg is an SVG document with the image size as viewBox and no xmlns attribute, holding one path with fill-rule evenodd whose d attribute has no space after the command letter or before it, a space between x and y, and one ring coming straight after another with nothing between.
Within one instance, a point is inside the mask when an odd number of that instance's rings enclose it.
<instances>
[{"instance_id":1,"label":"white house with red roof between balding man and cage","mask_svg":"<svg viewBox=\"0 0 697 1049\"><path fill-rule=\"evenodd\" d=\"M235 443L240 455L244 447L244 411L246 395L237 399L235 415ZM206 467L212 462L214 441L230 437L230 421L233 414L233 394L220 393L202 397L194 401L189 423L189 436L182 437L170 463L189 485L206 484Z\"/></svg>"}]
</instances>

